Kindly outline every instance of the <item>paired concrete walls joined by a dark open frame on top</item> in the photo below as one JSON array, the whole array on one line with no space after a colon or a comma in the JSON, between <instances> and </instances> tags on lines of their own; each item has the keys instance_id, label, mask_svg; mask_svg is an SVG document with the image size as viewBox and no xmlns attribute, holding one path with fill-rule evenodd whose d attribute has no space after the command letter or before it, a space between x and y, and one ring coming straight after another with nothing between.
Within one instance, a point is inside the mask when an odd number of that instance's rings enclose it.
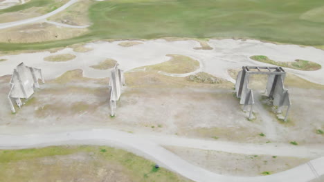
<instances>
[{"instance_id":1,"label":"paired concrete walls joined by a dark open frame on top","mask_svg":"<svg viewBox=\"0 0 324 182\"><path fill-rule=\"evenodd\" d=\"M240 104L244 104L244 110L247 105L251 105L249 118L251 119L252 107L254 104L253 90L249 89L249 76L251 74L267 74L268 82L266 88L266 94L268 97L273 99L273 105L278 106L278 111L281 110L282 106L287 105L288 109L285 116L289 112L291 105L289 99L288 90L285 89L284 80L286 76L285 70L281 67L258 67L258 66L243 66L242 70L237 74L235 83L236 97L240 98Z\"/></svg>"}]
</instances>

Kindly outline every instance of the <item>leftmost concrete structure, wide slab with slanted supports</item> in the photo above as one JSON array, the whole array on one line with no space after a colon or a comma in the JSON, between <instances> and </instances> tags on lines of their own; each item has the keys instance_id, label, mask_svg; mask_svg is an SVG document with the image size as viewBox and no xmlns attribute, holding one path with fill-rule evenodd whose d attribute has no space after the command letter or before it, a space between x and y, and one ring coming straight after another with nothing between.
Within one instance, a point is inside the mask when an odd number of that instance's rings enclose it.
<instances>
[{"instance_id":1,"label":"leftmost concrete structure, wide slab with slanted supports","mask_svg":"<svg viewBox=\"0 0 324 182\"><path fill-rule=\"evenodd\" d=\"M16 112L12 101L21 108L21 99L28 99L33 93L35 88L39 88L38 79L42 79L44 83L44 78L42 76L42 70L37 68L32 68L20 63L17 68L12 73L10 80L11 90L8 94L8 99L12 112Z\"/></svg>"}]
</instances>

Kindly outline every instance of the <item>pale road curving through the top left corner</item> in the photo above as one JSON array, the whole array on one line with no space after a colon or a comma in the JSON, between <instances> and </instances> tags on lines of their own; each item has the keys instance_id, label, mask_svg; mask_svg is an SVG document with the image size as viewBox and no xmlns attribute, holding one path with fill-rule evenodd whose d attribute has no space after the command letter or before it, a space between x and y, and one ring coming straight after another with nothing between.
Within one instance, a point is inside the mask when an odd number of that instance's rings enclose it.
<instances>
[{"instance_id":1,"label":"pale road curving through the top left corner","mask_svg":"<svg viewBox=\"0 0 324 182\"><path fill-rule=\"evenodd\" d=\"M62 10L65 10L66 8L71 6L73 3L76 3L77 1L78 0L71 0L71 1L67 2L66 4L64 4L63 6L61 6L60 8L57 8L53 12L49 12L48 14L44 14L44 15L42 15L40 17L34 17L34 18L30 18L30 19L23 19L23 20L19 20L19 21L12 21L12 22L8 22L8 23L0 23L0 29L10 28L10 27L14 27L14 26L21 26L21 25L24 25L24 24L33 23L33 22L37 22L37 21L44 21L44 19L47 19L48 17L51 17L54 14L62 12Z\"/></svg>"}]
</instances>

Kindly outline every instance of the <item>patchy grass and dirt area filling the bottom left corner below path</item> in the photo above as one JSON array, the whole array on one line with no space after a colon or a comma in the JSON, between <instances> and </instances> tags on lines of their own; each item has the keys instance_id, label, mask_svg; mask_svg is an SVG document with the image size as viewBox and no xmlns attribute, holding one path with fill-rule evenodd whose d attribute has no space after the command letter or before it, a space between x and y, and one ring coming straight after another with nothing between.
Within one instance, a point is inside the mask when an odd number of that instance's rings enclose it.
<instances>
[{"instance_id":1,"label":"patchy grass and dirt area filling the bottom left corner below path","mask_svg":"<svg viewBox=\"0 0 324 182\"><path fill-rule=\"evenodd\" d=\"M152 161L105 146L0 150L1 181L189 181ZM50 172L48 172L50 171Z\"/></svg>"}]
</instances>

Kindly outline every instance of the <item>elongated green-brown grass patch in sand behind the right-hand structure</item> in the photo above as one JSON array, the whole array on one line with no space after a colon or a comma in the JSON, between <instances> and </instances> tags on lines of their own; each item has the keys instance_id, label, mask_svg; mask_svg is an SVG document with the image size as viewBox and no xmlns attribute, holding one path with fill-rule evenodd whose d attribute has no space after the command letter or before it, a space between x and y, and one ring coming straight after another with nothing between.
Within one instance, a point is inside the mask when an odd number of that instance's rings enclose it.
<instances>
[{"instance_id":1,"label":"elongated green-brown grass patch in sand behind the right-hand structure","mask_svg":"<svg viewBox=\"0 0 324 182\"><path fill-rule=\"evenodd\" d=\"M269 63L269 64L278 65L286 68L293 68L296 70L312 71L312 70L319 70L322 68L322 66L318 63L314 63L312 61L305 61L302 59L296 59L295 62L278 62L278 61L273 61L268 57L262 55L252 56L250 58L255 61L260 61L262 63Z\"/></svg>"}]
</instances>

